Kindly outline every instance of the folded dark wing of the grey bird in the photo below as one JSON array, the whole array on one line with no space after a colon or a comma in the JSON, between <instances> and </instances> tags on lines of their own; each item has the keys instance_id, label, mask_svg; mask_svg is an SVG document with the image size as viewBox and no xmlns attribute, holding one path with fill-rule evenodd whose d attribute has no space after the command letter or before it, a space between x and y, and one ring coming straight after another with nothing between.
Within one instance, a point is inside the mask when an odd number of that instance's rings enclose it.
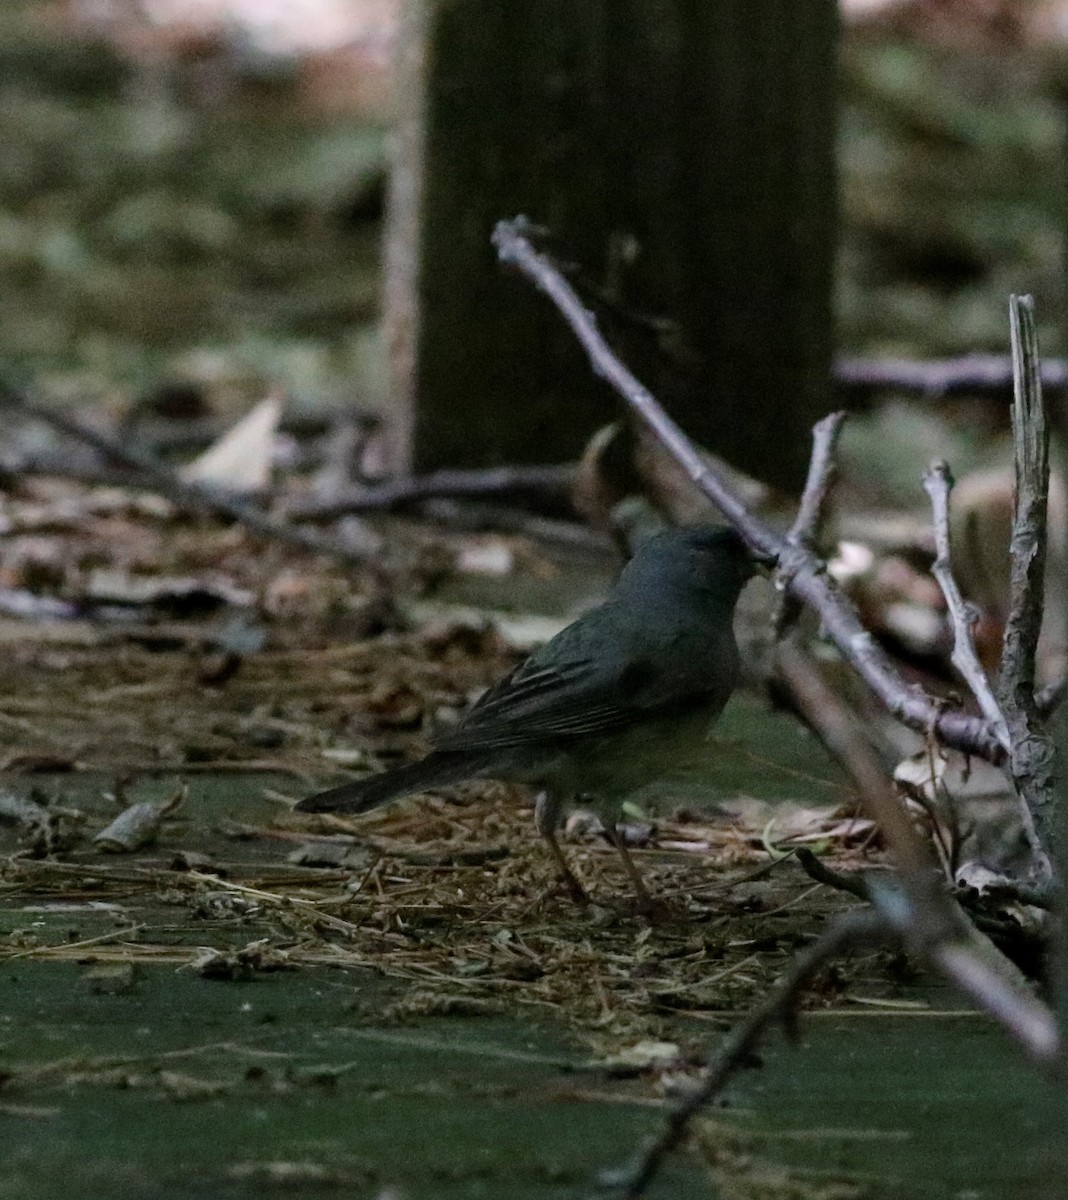
<instances>
[{"instance_id":1,"label":"folded dark wing of the grey bird","mask_svg":"<svg viewBox=\"0 0 1068 1200\"><path fill-rule=\"evenodd\" d=\"M604 610L601 610L604 613ZM464 719L439 738L438 750L482 750L575 738L626 728L710 689L712 664L671 661L630 640L620 654L619 630L601 622L569 626L494 684Z\"/></svg>"}]
</instances>

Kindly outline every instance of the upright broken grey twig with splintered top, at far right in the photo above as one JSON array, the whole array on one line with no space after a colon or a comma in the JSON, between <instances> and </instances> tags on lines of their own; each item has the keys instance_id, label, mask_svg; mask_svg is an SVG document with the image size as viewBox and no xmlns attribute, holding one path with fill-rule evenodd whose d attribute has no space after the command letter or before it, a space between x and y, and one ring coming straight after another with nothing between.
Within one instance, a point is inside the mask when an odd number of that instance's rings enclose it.
<instances>
[{"instance_id":1,"label":"upright broken grey twig with splintered top, at far right","mask_svg":"<svg viewBox=\"0 0 1068 1200\"><path fill-rule=\"evenodd\" d=\"M1038 335L1031 296L1009 301L1013 338L1013 506L1009 616L1006 620L998 692L1010 736L1009 769L1031 812L1044 851L1040 874L1051 874L1049 853L1055 809L1055 752L1034 703L1034 665L1042 630L1049 496L1049 427L1042 397Z\"/></svg>"}]
</instances>

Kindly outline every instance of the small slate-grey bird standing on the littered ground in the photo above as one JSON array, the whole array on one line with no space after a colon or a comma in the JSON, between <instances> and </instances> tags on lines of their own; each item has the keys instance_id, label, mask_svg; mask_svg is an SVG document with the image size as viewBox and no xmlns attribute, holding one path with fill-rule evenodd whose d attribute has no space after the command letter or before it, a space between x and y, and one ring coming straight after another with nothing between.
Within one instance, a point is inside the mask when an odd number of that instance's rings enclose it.
<instances>
[{"instance_id":1,"label":"small slate-grey bird standing on the littered ground","mask_svg":"<svg viewBox=\"0 0 1068 1200\"><path fill-rule=\"evenodd\" d=\"M538 788L535 827L576 901L557 840L581 802L601 818L642 906L652 898L620 836L623 803L709 758L708 733L738 682L733 618L756 562L725 526L643 541L605 600L493 684L424 758L342 784L302 812L366 812L469 779Z\"/></svg>"}]
</instances>

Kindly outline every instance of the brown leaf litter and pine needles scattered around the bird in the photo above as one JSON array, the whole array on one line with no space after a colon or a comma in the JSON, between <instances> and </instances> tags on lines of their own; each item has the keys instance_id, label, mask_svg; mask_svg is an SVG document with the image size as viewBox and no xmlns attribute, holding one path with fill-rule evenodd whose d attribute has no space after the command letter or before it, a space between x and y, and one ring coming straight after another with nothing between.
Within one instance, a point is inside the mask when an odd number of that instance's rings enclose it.
<instances>
[{"instance_id":1,"label":"brown leaf litter and pine needles scattered around the bird","mask_svg":"<svg viewBox=\"0 0 1068 1200\"><path fill-rule=\"evenodd\" d=\"M679 1019L725 1021L840 908L840 895L809 889L792 846L815 842L846 868L870 853L869 823L833 804L732 796L713 812L635 815L632 853L662 898L650 923L582 814L565 845L594 902L571 902L516 787L469 784L359 818L298 815L290 804L338 768L418 752L529 648L470 606L452 618L433 604L451 564L479 559L478 536L378 520L394 589L383 599L370 572L294 562L166 509L148 518L134 493L102 510L92 488L26 480L4 516L0 588L78 616L42 607L2 630L0 961L169 964L223 980L362 968L391 980L389 1020L552 1014L618 1057L671 1043ZM574 570L520 535L506 542L494 563L514 575ZM128 581L108 596L121 620L98 607L101 578ZM235 620L254 636L227 643L220 630ZM227 803L229 779L240 803ZM80 906L114 928L58 940L19 922L40 906ZM836 968L810 1002L841 1000L871 961ZM863 980L866 995L888 986ZM366 1015L380 1020L380 1007Z\"/></svg>"}]
</instances>

